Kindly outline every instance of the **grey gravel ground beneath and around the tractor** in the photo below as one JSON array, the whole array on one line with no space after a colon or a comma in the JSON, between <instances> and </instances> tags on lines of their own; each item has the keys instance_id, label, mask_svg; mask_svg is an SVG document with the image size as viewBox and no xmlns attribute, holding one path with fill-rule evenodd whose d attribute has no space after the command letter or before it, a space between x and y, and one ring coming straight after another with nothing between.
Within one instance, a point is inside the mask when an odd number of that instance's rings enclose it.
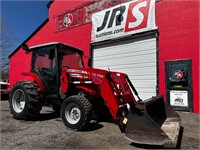
<instances>
[{"instance_id":1,"label":"grey gravel ground beneath and around the tractor","mask_svg":"<svg viewBox=\"0 0 200 150\"><path fill-rule=\"evenodd\" d=\"M112 122L90 123L86 131L68 130L60 117L44 107L37 121L12 118L8 101L1 101L1 149L156 149L131 144ZM200 149L200 116L179 112L182 118L181 149Z\"/></svg>"}]
</instances>

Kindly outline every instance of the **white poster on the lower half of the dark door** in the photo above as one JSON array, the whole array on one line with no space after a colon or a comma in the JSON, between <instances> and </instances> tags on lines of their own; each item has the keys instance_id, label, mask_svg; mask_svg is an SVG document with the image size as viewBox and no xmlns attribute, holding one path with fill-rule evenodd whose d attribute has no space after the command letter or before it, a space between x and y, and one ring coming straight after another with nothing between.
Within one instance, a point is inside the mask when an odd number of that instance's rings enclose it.
<instances>
[{"instance_id":1,"label":"white poster on the lower half of the dark door","mask_svg":"<svg viewBox=\"0 0 200 150\"><path fill-rule=\"evenodd\" d=\"M170 91L170 105L188 107L188 91Z\"/></svg>"}]
</instances>

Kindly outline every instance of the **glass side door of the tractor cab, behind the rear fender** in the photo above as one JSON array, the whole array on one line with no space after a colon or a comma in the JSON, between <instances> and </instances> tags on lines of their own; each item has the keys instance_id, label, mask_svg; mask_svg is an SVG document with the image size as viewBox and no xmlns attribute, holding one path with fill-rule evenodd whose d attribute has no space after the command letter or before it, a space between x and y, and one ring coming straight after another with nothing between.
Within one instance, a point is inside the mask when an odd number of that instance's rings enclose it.
<instances>
[{"instance_id":1,"label":"glass side door of the tractor cab, behind the rear fender","mask_svg":"<svg viewBox=\"0 0 200 150\"><path fill-rule=\"evenodd\" d=\"M42 81L45 92L55 95L58 91L58 69L56 65L56 53L53 46L35 49L33 52L32 70Z\"/></svg>"}]
</instances>

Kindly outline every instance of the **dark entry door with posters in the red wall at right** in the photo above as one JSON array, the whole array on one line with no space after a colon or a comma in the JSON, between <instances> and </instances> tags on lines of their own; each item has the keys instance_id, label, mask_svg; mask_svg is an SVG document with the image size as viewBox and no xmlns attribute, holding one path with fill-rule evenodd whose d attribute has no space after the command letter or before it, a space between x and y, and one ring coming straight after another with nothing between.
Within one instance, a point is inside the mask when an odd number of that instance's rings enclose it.
<instances>
[{"instance_id":1,"label":"dark entry door with posters in the red wall at right","mask_svg":"<svg viewBox=\"0 0 200 150\"><path fill-rule=\"evenodd\" d=\"M167 101L176 110L193 111L191 60L166 61Z\"/></svg>"}]
</instances>

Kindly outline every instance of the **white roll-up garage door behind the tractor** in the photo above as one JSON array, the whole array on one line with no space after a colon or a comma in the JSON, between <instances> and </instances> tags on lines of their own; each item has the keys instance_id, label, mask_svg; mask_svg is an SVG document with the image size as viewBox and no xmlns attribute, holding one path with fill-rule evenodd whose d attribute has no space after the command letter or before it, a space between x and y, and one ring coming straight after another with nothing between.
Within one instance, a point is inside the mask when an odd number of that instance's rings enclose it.
<instances>
[{"instance_id":1,"label":"white roll-up garage door behind the tractor","mask_svg":"<svg viewBox=\"0 0 200 150\"><path fill-rule=\"evenodd\" d=\"M142 99L156 95L156 36L92 46L93 67L125 72Z\"/></svg>"}]
</instances>

